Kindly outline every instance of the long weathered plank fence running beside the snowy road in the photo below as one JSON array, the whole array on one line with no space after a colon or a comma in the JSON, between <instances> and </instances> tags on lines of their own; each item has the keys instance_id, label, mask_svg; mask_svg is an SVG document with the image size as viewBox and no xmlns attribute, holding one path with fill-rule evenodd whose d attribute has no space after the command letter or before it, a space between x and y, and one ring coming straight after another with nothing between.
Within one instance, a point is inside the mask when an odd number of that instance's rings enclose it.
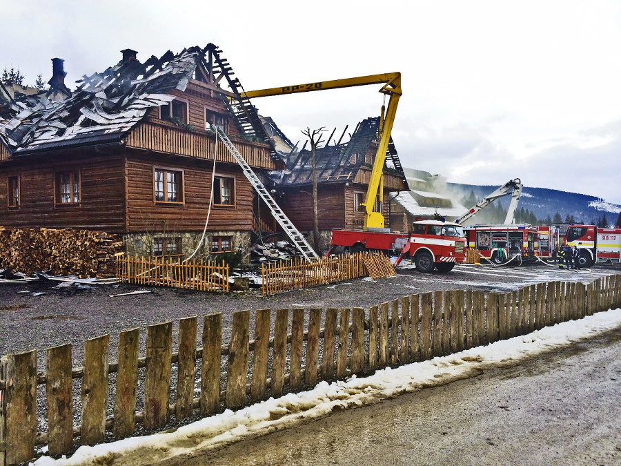
<instances>
[{"instance_id":1,"label":"long weathered plank fence running beside the snowy road","mask_svg":"<svg viewBox=\"0 0 621 466\"><path fill-rule=\"evenodd\" d=\"M144 358L139 358L139 329L131 329L119 334L116 362L108 361L106 335L84 342L83 367L72 368L70 344L46 349L44 373L37 373L37 351L10 354L0 366L0 460L8 465L28 461L35 445L43 444L49 454L67 454L78 437L82 445L102 442L107 431L124 438L139 423L160 429L171 416L210 416L313 387L318 380L428 360L620 306L621 275L611 275L586 285L548 282L507 293L420 293L368 311L277 309L273 328L272 311L260 309L253 340L250 311L237 311L226 345L222 315L215 313L204 316L198 348L195 316L179 321L175 352L172 322L165 322L147 328ZM111 373L116 373L114 382ZM200 396L195 398L197 376ZM79 425L72 416L73 379L81 379ZM39 402L46 404L47 431L38 429L37 385L45 387ZM106 418L108 390L113 416ZM138 396L144 406L139 412Z\"/></svg>"}]
</instances>

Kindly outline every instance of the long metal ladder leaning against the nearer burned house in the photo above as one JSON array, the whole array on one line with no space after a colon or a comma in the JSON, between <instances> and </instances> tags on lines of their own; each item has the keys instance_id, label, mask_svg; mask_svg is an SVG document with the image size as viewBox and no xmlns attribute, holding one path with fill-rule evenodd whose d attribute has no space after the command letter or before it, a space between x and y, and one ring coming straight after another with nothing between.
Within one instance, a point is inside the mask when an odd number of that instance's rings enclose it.
<instances>
[{"instance_id":1,"label":"long metal ladder leaning against the nearer burned house","mask_svg":"<svg viewBox=\"0 0 621 466\"><path fill-rule=\"evenodd\" d=\"M302 233L299 233L299 231L297 231L297 228L295 228L293 223L291 223L291 221L282 211L282 208L280 208L280 206L276 204L275 200L270 195L270 193L268 193L268 190L265 188L259 177L255 175L255 172L253 172L252 168L250 168L250 166L246 163L246 160L244 159L242 154L240 154L239 151L237 151L237 148L233 145L233 143L230 142L230 139L228 139L226 133L224 133L223 130L215 125L213 126L213 129L215 129L218 136L220 137L220 139L222 139L222 142L224 142L224 145L231 153L231 155L233 155L239 166L242 167L242 171L244 171L244 175L246 175L246 178L248 178L250 184L253 185L255 191L259 193L259 196L261 196L262 200L270 208L270 211L272 212L272 215L274 216L278 224L282 227L288 237L290 237L290 240L293 241L293 244L295 244L295 246L297 247L297 249L299 249L302 255L304 255L304 258L308 261L310 261L311 258L319 259L319 256L317 255L315 250L311 248L311 245L308 244L308 242L306 242L304 236L302 236Z\"/></svg>"}]
</instances>

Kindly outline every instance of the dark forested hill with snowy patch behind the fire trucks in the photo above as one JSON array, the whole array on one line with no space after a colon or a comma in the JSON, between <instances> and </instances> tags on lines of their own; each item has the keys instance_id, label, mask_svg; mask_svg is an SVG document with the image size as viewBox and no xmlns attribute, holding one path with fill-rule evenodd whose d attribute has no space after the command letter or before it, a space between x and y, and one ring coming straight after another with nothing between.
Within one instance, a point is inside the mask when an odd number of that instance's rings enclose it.
<instances>
[{"instance_id":1,"label":"dark forested hill with snowy patch behind the fire trucks","mask_svg":"<svg viewBox=\"0 0 621 466\"><path fill-rule=\"evenodd\" d=\"M466 208L471 208L476 203L476 201L471 202L472 200L481 200L499 187L456 183L447 183L446 186L458 200L464 202L463 205ZM498 202L506 211L506 208L509 207L509 202L511 202L511 195L501 197L493 204ZM493 204L487 206L486 209L494 208ZM584 222L588 224L597 224L598 220L602 220L605 214L608 223L614 224L621 213L621 206L604 202L604 200L595 196L568 193L555 189L524 187L517 210L522 214L530 213L531 217L536 217L540 221L546 220L547 217L553 219L555 214L558 213L563 221L567 217L573 217L573 221L576 223Z\"/></svg>"}]
</instances>

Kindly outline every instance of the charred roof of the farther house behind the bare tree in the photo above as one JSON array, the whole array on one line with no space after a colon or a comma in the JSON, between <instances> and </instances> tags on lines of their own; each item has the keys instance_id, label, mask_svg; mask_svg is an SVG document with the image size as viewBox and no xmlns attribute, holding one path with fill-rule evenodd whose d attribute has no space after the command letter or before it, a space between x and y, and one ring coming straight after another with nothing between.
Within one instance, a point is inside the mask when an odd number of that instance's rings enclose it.
<instances>
[{"instance_id":1,"label":"charred roof of the farther house behind the bare tree","mask_svg":"<svg viewBox=\"0 0 621 466\"><path fill-rule=\"evenodd\" d=\"M317 148L315 151L317 183L353 181L359 168L365 164L364 156L371 148L371 144L377 142L379 126L380 117L364 119L359 122L348 142L341 144L341 139L339 139L333 146L326 145ZM293 144L290 146L293 147ZM294 151L286 154L281 153L288 170L271 172L270 179L281 186L312 182L311 155L311 151L306 151L304 148L297 153ZM391 168L394 168L396 173L405 179L392 138L386 151L386 162L392 165Z\"/></svg>"}]
</instances>

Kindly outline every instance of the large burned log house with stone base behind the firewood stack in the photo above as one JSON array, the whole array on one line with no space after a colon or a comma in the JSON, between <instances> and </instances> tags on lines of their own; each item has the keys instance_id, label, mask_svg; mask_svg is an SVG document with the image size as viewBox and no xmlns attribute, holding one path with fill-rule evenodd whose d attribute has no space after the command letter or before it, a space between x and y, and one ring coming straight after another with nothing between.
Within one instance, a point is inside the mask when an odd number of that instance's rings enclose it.
<instances>
[{"instance_id":1,"label":"large burned log house with stone base behind the firewood stack","mask_svg":"<svg viewBox=\"0 0 621 466\"><path fill-rule=\"evenodd\" d=\"M211 43L122 53L73 91L55 59L47 93L0 104L0 226L119 233L148 256L193 251L208 218L199 257L247 250L252 186L214 126L253 170L284 164L230 64Z\"/></svg>"}]
</instances>

